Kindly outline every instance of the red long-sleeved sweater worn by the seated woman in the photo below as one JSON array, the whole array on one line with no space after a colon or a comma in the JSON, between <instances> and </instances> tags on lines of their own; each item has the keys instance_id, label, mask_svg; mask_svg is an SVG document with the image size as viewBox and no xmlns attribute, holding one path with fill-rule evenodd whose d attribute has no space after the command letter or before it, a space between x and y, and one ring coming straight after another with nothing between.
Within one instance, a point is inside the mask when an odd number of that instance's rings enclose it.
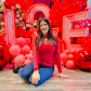
<instances>
[{"instance_id":1,"label":"red long-sleeved sweater worn by the seated woman","mask_svg":"<svg viewBox=\"0 0 91 91\"><path fill-rule=\"evenodd\" d=\"M60 57L60 47L58 39L55 37L56 46L44 44L44 41L39 47L36 46L38 37L32 38L32 60L34 60L34 70L38 70L38 64L46 66L54 66L54 58L58 68L58 73L62 73L61 57Z\"/></svg>"}]
</instances>

